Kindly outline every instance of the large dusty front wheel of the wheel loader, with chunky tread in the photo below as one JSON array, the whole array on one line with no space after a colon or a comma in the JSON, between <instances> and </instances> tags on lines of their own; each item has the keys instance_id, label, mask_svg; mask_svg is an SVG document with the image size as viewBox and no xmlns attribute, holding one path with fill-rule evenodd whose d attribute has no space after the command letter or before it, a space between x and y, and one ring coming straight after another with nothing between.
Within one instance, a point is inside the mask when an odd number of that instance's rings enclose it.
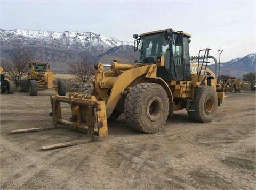
<instances>
[{"instance_id":1,"label":"large dusty front wheel of the wheel loader, with chunky tread","mask_svg":"<svg viewBox=\"0 0 256 190\"><path fill-rule=\"evenodd\" d=\"M164 88L156 83L140 83L127 94L124 114L136 131L156 133L169 113L169 99Z\"/></svg>"}]
</instances>

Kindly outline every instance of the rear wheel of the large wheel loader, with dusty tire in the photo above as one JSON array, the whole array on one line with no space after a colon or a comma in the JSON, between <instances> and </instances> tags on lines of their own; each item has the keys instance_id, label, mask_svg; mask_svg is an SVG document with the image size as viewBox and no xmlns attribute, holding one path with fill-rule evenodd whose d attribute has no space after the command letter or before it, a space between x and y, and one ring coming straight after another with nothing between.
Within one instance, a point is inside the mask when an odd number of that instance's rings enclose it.
<instances>
[{"instance_id":1,"label":"rear wheel of the large wheel loader, with dusty tire","mask_svg":"<svg viewBox=\"0 0 256 190\"><path fill-rule=\"evenodd\" d=\"M188 111L189 118L197 122L211 122L217 113L217 93L209 86L197 87L195 93L195 110Z\"/></svg>"}]
</instances>

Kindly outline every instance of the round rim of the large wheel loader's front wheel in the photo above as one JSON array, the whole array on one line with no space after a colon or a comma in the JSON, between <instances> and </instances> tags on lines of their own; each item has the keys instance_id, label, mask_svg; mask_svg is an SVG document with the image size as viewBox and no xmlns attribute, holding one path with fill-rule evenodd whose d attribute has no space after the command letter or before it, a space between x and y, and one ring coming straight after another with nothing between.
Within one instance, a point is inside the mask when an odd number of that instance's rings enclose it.
<instances>
[{"instance_id":1,"label":"round rim of the large wheel loader's front wheel","mask_svg":"<svg viewBox=\"0 0 256 190\"><path fill-rule=\"evenodd\" d=\"M149 120L155 122L161 116L163 111L163 102L159 97L152 97L148 101L147 116Z\"/></svg>"}]
</instances>

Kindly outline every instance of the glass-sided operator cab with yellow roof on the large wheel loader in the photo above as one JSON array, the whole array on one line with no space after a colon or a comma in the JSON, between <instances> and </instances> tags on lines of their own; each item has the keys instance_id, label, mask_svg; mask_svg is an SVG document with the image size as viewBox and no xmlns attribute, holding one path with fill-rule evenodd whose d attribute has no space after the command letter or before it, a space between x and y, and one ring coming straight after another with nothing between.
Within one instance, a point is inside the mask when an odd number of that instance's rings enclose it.
<instances>
[{"instance_id":1,"label":"glass-sided operator cab with yellow roof on the large wheel loader","mask_svg":"<svg viewBox=\"0 0 256 190\"><path fill-rule=\"evenodd\" d=\"M133 35L134 50L138 50L137 62L157 64L157 77L166 82L191 80L189 64L190 34L172 29ZM164 60L159 65L159 58Z\"/></svg>"}]
</instances>

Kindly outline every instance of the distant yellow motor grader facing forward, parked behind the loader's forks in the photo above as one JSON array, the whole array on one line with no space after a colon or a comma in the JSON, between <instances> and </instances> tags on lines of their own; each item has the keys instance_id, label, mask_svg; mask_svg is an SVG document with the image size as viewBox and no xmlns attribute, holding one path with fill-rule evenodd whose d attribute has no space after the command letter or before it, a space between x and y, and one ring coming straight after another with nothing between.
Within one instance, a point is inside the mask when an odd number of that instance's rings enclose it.
<instances>
[{"instance_id":1,"label":"distant yellow motor grader facing forward, parked behind the loader's forks","mask_svg":"<svg viewBox=\"0 0 256 190\"><path fill-rule=\"evenodd\" d=\"M55 89L60 96L66 95L66 82L58 81L53 84L53 72L47 62L33 61L29 63L30 72L27 79L21 80L20 91L29 92L30 96L37 96L38 89Z\"/></svg>"}]
</instances>

